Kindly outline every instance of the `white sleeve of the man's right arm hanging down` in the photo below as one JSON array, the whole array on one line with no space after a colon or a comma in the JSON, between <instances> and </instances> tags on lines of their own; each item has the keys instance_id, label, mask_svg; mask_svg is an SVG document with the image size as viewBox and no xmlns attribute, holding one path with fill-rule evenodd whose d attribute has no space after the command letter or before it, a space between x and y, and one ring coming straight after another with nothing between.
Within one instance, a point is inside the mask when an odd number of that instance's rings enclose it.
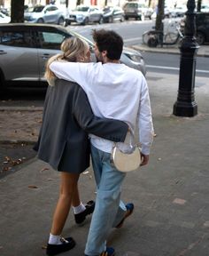
<instances>
[{"instance_id":1,"label":"white sleeve of the man's right arm hanging down","mask_svg":"<svg viewBox=\"0 0 209 256\"><path fill-rule=\"evenodd\" d=\"M151 100L149 89L143 77L141 97L138 112L139 140L142 145L142 153L150 155L151 144L153 141L153 124L151 116Z\"/></svg>"}]
</instances>

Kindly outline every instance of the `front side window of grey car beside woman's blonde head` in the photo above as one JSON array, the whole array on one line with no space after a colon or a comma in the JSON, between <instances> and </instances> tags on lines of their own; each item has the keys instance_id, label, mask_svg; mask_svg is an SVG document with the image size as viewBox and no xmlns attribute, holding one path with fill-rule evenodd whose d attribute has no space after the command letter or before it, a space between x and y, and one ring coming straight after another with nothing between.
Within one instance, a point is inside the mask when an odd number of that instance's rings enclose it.
<instances>
[{"instance_id":1,"label":"front side window of grey car beside woman's blonde head","mask_svg":"<svg viewBox=\"0 0 209 256\"><path fill-rule=\"evenodd\" d=\"M66 35L53 32L38 32L41 48L60 50L60 45L66 39Z\"/></svg>"}]
</instances>

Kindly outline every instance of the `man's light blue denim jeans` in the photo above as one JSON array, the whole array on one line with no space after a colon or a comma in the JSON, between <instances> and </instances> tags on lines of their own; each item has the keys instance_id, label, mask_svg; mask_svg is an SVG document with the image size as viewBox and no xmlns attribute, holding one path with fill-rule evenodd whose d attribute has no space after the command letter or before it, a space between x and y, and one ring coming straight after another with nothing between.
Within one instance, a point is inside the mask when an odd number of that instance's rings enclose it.
<instances>
[{"instance_id":1,"label":"man's light blue denim jeans","mask_svg":"<svg viewBox=\"0 0 209 256\"><path fill-rule=\"evenodd\" d=\"M85 254L97 256L106 250L106 239L111 228L120 223L127 211L125 204L120 201L121 184L126 174L112 166L111 154L92 145L91 158L97 183L97 198Z\"/></svg>"}]
</instances>

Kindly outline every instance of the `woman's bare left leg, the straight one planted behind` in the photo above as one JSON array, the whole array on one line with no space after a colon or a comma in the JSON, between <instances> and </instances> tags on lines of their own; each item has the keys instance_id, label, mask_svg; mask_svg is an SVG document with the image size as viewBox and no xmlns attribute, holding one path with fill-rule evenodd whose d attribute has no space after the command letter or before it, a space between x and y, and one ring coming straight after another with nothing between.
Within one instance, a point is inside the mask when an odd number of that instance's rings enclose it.
<instances>
[{"instance_id":1,"label":"woman's bare left leg, the straight one planted behind","mask_svg":"<svg viewBox=\"0 0 209 256\"><path fill-rule=\"evenodd\" d=\"M75 173L61 172L58 204L53 215L50 230L50 233L54 236L59 236L61 234L74 196L77 199L79 198L79 196L76 195L76 193L78 193L77 182L79 180L79 176L79 174Z\"/></svg>"}]
</instances>

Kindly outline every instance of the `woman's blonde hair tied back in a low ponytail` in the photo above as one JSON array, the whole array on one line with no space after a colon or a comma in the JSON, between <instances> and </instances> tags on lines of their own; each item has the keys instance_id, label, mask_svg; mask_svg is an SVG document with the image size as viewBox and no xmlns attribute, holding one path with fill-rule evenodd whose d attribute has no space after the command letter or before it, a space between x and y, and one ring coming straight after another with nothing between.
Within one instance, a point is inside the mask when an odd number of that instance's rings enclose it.
<instances>
[{"instance_id":1,"label":"woman's blonde hair tied back in a low ponytail","mask_svg":"<svg viewBox=\"0 0 209 256\"><path fill-rule=\"evenodd\" d=\"M57 78L50 70L50 64L55 61L85 61L87 52L89 52L89 44L79 37L69 37L61 44L61 53L50 57L46 64L45 78L50 85L54 85Z\"/></svg>"}]
</instances>

